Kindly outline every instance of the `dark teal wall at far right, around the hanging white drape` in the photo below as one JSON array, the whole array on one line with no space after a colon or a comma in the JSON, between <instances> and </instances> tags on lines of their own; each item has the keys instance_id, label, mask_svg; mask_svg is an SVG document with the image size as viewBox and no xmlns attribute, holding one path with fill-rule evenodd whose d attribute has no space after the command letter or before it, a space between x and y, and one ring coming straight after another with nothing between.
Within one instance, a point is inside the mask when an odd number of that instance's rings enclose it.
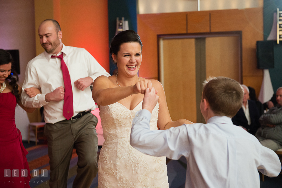
<instances>
[{"instance_id":1,"label":"dark teal wall at far right, around the hanging white drape","mask_svg":"<svg viewBox=\"0 0 282 188\"><path fill-rule=\"evenodd\" d=\"M282 11L282 1L281 0L263 0L263 38L267 39L272 23L273 23L273 13L279 8ZM282 86L282 44L274 46L274 68L269 69L269 74L271 78L271 83L274 92L278 87Z\"/></svg>"}]
</instances>

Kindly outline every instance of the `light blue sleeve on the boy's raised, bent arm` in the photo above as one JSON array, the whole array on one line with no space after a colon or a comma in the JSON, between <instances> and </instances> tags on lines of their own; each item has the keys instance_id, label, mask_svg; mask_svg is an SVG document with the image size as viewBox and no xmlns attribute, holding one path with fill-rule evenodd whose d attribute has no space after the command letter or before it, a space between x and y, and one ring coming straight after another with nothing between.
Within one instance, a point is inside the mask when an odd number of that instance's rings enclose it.
<instances>
[{"instance_id":1,"label":"light blue sleeve on the boy's raised, bent arm","mask_svg":"<svg viewBox=\"0 0 282 188\"><path fill-rule=\"evenodd\" d=\"M140 110L132 122L130 144L147 155L166 156L177 160L189 154L189 140L186 125L168 130L150 130L151 113Z\"/></svg>"}]
</instances>

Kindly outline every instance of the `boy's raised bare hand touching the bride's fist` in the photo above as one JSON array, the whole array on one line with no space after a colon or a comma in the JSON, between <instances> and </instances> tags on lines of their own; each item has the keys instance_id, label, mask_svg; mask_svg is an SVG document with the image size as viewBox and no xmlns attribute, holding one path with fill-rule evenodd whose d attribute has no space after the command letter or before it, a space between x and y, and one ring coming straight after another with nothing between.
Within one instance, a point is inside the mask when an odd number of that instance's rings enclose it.
<instances>
[{"instance_id":1,"label":"boy's raised bare hand touching the bride's fist","mask_svg":"<svg viewBox=\"0 0 282 188\"><path fill-rule=\"evenodd\" d=\"M153 109L155 108L157 101L159 100L159 96L157 96L157 90L154 87L152 89L145 89L144 99L142 102L142 109L149 110L152 114Z\"/></svg>"}]
</instances>

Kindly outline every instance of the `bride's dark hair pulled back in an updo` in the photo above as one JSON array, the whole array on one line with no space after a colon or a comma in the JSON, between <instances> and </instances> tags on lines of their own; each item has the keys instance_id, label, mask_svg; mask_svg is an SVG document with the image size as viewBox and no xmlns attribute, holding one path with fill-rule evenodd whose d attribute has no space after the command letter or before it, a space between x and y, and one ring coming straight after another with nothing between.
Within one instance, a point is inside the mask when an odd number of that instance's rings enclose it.
<instances>
[{"instance_id":1,"label":"bride's dark hair pulled back in an updo","mask_svg":"<svg viewBox=\"0 0 282 188\"><path fill-rule=\"evenodd\" d=\"M117 33L114 36L110 46L110 53L112 60L113 60L113 54L117 55L117 52L120 51L120 45L122 45L122 43L135 43L135 42L140 44L142 50L143 45L140 40L140 36L135 31L125 30L120 33ZM116 63L114 62L114 64Z\"/></svg>"}]
</instances>

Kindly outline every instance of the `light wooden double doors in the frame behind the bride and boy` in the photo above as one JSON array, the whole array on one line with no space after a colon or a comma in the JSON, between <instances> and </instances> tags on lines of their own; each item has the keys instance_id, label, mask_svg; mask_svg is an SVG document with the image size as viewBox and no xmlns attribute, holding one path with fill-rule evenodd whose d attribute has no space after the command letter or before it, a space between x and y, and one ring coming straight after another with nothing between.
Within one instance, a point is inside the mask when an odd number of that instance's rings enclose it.
<instances>
[{"instance_id":1,"label":"light wooden double doors in the frame behind the bride and boy","mask_svg":"<svg viewBox=\"0 0 282 188\"><path fill-rule=\"evenodd\" d=\"M241 82L239 36L163 38L159 72L172 121L205 123L200 111L202 83L225 76Z\"/></svg>"}]
</instances>

